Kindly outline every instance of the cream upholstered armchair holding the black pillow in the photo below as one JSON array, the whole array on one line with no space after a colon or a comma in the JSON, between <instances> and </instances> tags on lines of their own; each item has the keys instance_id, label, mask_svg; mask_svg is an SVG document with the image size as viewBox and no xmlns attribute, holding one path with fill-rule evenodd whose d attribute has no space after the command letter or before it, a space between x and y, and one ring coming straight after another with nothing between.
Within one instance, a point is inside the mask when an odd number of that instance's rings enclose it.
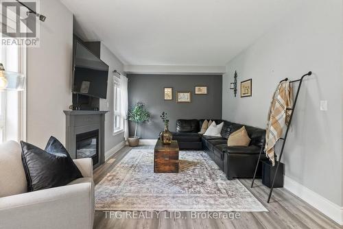
<instances>
[{"instance_id":1,"label":"cream upholstered armchair holding the black pillow","mask_svg":"<svg viewBox=\"0 0 343 229\"><path fill-rule=\"evenodd\" d=\"M84 178L66 186L22 193L26 189L23 184L27 184L21 177L25 172L18 171L23 170L20 145L15 142L0 145L0 228L93 228L92 160L83 158L74 162ZM9 192L16 194L8 195Z\"/></svg>"}]
</instances>

